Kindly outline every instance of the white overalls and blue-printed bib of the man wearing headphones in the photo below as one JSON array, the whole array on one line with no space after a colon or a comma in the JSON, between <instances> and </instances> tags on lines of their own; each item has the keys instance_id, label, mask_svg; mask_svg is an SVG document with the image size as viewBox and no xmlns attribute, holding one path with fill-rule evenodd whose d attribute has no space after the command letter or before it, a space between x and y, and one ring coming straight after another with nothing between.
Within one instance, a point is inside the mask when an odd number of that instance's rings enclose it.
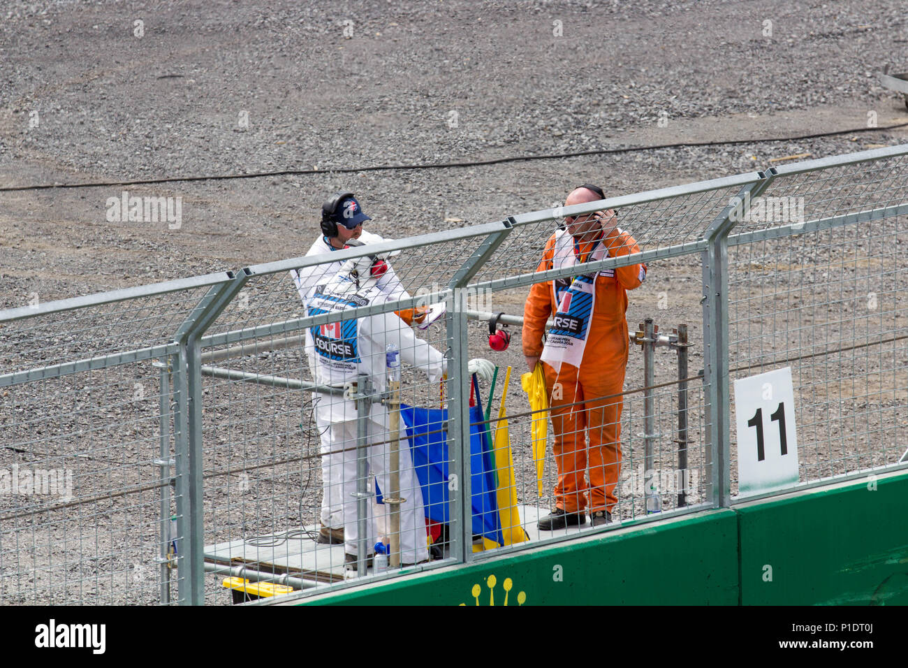
<instances>
[{"instance_id":1,"label":"white overalls and blue-printed bib of the man wearing headphones","mask_svg":"<svg viewBox=\"0 0 908 668\"><path fill-rule=\"evenodd\" d=\"M306 300L306 314L340 314L343 311L400 298L389 287L386 276L390 267L376 256L364 256L342 264L341 271L329 281L314 287ZM389 344L400 351L400 359L417 366L437 383L446 370L446 361L438 350L416 337L410 326L394 312L341 318L335 322L310 327L306 331L306 350L311 355L314 377L318 384L332 387L354 386L360 374L370 377L373 392L384 392L387 384L386 349ZM471 360L470 373L490 379L492 364ZM356 562L357 540L357 410L352 397L318 394L316 417L326 424L332 474L341 473L341 507L344 528L345 561ZM390 447L388 414L380 403L370 404L369 434L375 442L368 449L369 471L375 474L382 494L390 490ZM410 447L400 431L400 563L421 563L429 558L426 524L419 481L413 470ZM372 552L378 537L373 518L368 518L370 535L366 544Z\"/></svg>"}]
</instances>

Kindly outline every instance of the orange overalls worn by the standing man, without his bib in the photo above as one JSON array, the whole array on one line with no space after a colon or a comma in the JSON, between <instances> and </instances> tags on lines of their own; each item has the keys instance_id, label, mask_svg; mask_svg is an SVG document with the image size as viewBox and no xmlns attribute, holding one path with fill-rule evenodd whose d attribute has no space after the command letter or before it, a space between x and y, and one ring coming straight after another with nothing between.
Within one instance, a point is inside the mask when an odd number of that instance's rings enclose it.
<instances>
[{"instance_id":1,"label":"orange overalls worn by the standing man, without his bib","mask_svg":"<svg viewBox=\"0 0 908 668\"><path fill-rule=\"evenodd\" d=\"M562 241L566 232L552 234L546 244L537 271L552 268L556 237ZM605 245L608 256L639 253L637 242L629 234L615 229L598 241L573 244L578 262L587 257L597 243ZM567 513L609 513L617 503L615 485L621 462L621 409L627 366L628 333L627 290L641 284L646 277L646 264L629 264L598 272L595 279L593 312L587 329L587 342L579 368L562 362L560 370L543 364L552 428L555 432L553 453L558 465L555 500ZM570 279L534 284L524 308L523 353L542 354L542 335L546 321L558 311L558 293ZM577 402L581 402L577 404ZM573 404L573 405L571 405ZM587 449L587 435L589 447ZM586 472L589 469L589 486Z\"/></svg>"}]
</instances>

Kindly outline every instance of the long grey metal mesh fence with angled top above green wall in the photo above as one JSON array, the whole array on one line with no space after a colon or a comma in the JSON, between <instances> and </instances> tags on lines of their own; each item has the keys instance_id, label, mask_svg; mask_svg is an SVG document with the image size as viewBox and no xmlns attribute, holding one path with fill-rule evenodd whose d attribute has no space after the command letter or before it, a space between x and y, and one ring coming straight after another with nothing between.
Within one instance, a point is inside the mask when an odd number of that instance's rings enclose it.
<instances>
[{"instance_id":1,"label":"long grey metal mesh fence with angled top above green wall","mask_svg":"<svg viewBox=\"0 0 908 668\"><path fill-rule=\"evenodd\" d=\"M606 209L640 253L536 271L564 216ZM0 603L308 595L728 506L733 382L784 367L799 472L767 494L903 466L905 214L903 145L0 312ZM301 276L323 288L372 255L385 296L303 304ZM577 408L623 406L613 521L540 531L552 424L520 388L519 337L489 351L483 312L516 326L529 285L639 262L624 389ZM429 304L444 317L410 328ZM317 340L347 341L353 322L373 373L314 374ZM390 376L388 343L403 360ZM494 391L471 382L475 357L500 366ZM411 406L438 409L430 463ZM443 484L419 484L429 464ZM320 543L338 523L347 543ZM365 559L382 536L387 570Z\"/></svg>"}]
</instances>

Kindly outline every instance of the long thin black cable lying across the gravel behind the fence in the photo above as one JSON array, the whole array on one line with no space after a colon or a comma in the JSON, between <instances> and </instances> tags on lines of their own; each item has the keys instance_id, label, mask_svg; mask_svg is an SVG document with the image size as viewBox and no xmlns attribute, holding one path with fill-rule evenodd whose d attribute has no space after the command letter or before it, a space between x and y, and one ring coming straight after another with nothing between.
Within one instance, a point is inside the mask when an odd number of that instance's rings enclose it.
<instances>
[{"instance_id":1,"label":"long thin black cable lying across the gravel behind the fence","mask_svg":"<svg viewBox=\"0 0 908 668\"><path fill-rule=\"evenodd\" d=\"M792 137L759 137L755 139L725 139L716 142L677 142L676 144L657 144L652 146L628 146L627 148L597 148L590 151L575 151L572 153L555 153L543 155L512 155L503 158L489 158L489 160L471 160L466 163L429 163L422 165L372 165L370 167L336 167L328 169L283 169L277 172L253 172L252 174L212 174L209 176L167 176L156 179L135 179L133 181L93 181L83 184L35 184L35 185L10 185L0 187L0 192L10 193L24 190L53 190L63 188L98 188L113 185L151 185L172 184L191 181L231 181L234 179L268 178L270 176L301 176L309 174L356 174L358 172L394 172L407 169L449 169L452 167L476 167L482 165L502 165L504 163L523 163L533 160L558 160L582 155L613 155L621 153L637 153L640 151L655 151L660 148L693 148L696 146L726 146L732 144L768 144L773 142L795 142L804 139L816 139L834 135L854 135L859 132L882 132L905 127L908 123L898 125L883 125L883 127L858 127L852 130L834 130L831 132L813 133L811 135L797 135Z\"/></svg>"}]
</instances>

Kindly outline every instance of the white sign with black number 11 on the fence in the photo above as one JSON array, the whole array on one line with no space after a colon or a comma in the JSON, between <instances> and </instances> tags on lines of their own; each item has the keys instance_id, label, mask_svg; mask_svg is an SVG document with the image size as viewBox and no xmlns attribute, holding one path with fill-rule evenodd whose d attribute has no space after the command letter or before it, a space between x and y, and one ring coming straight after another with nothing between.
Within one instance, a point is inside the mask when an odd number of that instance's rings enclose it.
<instances>
[{"instance_id":1,"label":"white sign with black number 11 on the fence","mask_svg":"<svg viewBox=\"0 0 908 668\"><path fill-rule=\"evenodd\" d=\"M795 390L790 366L735 381L739 495L798 482Z\"/></svg>"}]
</instances>

